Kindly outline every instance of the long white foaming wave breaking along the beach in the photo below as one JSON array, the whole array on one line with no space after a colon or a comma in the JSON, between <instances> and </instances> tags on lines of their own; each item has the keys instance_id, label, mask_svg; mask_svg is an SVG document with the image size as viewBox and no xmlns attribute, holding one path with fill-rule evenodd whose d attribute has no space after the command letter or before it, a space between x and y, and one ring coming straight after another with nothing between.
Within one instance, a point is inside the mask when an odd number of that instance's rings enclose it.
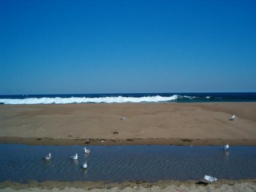
<instances>
[{"instance_id":1,"label":"long white foaming wave breaking along the beach","mask_svg":"<svg viewBox=\"0 0 256 192\"><path fill-rule=\"evenodd\" d=\"M42 97L26 99L0 99L3 104L68 104L68 103L123 103L123 102L168 102L178 99L178 95L171 97L148 96L148 97Z\"/></svg>"}]
</instances>

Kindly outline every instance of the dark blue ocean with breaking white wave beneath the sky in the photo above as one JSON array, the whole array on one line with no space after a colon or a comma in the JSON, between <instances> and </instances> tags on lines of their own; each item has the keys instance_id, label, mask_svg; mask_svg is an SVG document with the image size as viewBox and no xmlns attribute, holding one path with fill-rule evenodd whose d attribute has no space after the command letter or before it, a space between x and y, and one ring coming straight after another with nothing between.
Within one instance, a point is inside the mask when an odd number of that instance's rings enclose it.
<instances>
[{"instance_id":1,"label":"dark blue ocean with breaking white wave beneath the sky","mask_svg":"<svg viewBox=\"0 0 256 192\"><path fill-rule=\"evenodd\" d=\"M101 93L0 95L0 104L70 104L125 102L256 102L256 93Z\"/></svg>"}]
</instances>

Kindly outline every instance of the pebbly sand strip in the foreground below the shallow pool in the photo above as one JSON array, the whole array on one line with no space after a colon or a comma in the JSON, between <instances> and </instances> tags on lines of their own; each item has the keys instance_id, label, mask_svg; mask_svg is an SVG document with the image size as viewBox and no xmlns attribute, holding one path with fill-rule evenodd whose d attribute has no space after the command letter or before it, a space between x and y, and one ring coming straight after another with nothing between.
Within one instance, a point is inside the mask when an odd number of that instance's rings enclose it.
<instances>
[{"instance_id":1,"label":"pebbly sand strip in the foreground below the shallow pool","mask_svg":"<svg viewBox=\"0 0 256 192\"><path fill-rule=\"evenodd\" d=\"M256 190L256 179L225 180L208 184L202 180L141 180L123 182L90 181L44 181L29 180L28 183L0 182L0 191L241 191Z\"/></svg>"}]
</instances>

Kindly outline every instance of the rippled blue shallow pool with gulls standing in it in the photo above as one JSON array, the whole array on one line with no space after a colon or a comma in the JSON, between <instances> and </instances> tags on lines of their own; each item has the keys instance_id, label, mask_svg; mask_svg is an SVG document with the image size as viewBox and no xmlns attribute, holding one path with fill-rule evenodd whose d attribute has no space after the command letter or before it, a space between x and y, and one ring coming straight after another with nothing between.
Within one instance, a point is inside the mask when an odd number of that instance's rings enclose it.
<instances>
[{"instance_id":1,"label":"rippled blue shallow pool with gulls standing in it","mask_svg":"<svg viewBox=\"0 0 256 192\"><path fill-rule=\"evenodd\" d=\"M256 147L231 146L83 146L0 145L0 181L43 180L161 180L256 177ZM45 161L49 152L52 159ZM73 161L68 156L78 154ZM87 162L83 170L81 164Z\"/></svg>"}]
</instances>

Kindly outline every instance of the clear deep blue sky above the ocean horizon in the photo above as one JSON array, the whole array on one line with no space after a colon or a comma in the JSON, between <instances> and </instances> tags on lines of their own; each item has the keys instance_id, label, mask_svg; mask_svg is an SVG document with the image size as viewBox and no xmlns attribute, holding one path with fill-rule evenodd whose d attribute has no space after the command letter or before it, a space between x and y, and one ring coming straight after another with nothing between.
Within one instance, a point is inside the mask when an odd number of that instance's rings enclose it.
<instances>
[{"instance_id":1,"label":"clear deep blue sky above the ocean horizon","mask_svg":"<svg viewBox=\"0 0 256 192\"><path fill-rule=\"evenodd\" d=\"M256 1L0 1L0 95L256 92Z\"/></svg>"}]
</instances>

